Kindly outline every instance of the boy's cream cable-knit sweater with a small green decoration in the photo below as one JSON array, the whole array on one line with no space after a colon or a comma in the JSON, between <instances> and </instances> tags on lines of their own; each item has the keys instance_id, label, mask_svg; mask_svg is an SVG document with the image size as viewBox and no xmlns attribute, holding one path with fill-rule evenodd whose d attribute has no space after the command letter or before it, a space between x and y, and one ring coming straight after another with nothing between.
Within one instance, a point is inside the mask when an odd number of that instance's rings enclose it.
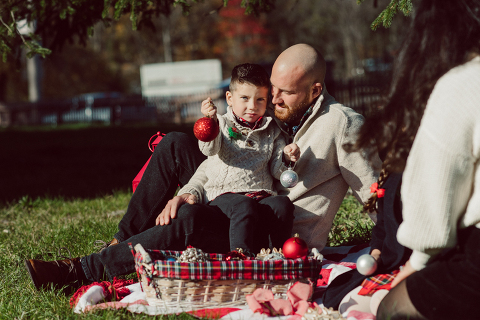
<instances>
[{"instance_id":1,"label":"boy's cream cable-knit sweater with a small green decoration","mask_svg":"<svg viewBox=\"0 0 480 320\"><path fill-rule=\"evenodd\" d=\"M199 141L202 153L208 156L190 181L178 194L191 193L198 203L206 203L225 192L265 190L273 195L273 177L280 178L285 139L271 116L264 116L259 128L252 130L239 125L228 107L218 116L220 133L211 142ZM234 126L242 137L229 137ZM273 177L272 177L273 176Z\"/></svg>"}]
</instances>

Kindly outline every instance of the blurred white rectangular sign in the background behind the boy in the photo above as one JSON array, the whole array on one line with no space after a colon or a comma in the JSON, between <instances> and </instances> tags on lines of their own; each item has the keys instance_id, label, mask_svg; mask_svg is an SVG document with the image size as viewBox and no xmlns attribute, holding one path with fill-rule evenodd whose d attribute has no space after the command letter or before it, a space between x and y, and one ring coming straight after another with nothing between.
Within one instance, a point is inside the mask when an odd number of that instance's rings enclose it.
<instances>
[{"instance_id":1,"label":"blurred white rectangular sign in the background behind the boy","mask_svg":"<svg viewBox=\"0 0 480 320\"><path fill-rule=\"evenodd\" d=\"M146 64L140 81L144 97L206 92L222 81L222 64L218 59Z\"/></svg>"}]
</instances>

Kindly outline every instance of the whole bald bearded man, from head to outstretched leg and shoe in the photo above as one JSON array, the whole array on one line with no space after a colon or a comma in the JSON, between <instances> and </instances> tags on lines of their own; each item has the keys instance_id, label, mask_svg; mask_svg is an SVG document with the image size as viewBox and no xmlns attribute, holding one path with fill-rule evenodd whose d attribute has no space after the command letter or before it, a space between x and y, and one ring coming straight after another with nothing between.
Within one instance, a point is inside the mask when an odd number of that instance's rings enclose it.
<instances>
[{"instance_id":1,"label":"whole bald bearded man, from head to outstretched leg and shoe","mask_svg":"<svg viewBox=\"0 0 480 320\"><path fill-rule=\"evenodd\" d=\"M295 205L293 231L310 248L319 250L325 246L348 187L359 201L366 201L377 176L362 154L343 149L345 143L354 141L363 117L337 103L328 94L324 78L325 60L306 44L282 52L271 76L277 123L301 150L294 167L300 182L291 189L278 184L277 190ZM185 185L194 173L202 179L204 159L197 141L181 133L167 134L155 148L114 239L99 253L81 258L27 260L37 289L51 284L78 286L135 272L128 243L140 243L146 249L184 250L192 245L206 252L228 252L229 221L225 215L177 214L190 197L173 197L177 186ZM374 163L380 167L378 159Z\"/></svg>"}]
</instances>

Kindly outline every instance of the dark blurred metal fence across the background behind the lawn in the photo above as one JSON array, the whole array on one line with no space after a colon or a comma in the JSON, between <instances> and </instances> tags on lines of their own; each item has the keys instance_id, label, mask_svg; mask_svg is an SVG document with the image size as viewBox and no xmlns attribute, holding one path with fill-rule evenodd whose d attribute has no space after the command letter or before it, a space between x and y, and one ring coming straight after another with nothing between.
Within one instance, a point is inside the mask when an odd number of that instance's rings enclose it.
<instances>
[{"instance_id":1,"label":"dark blurred metal fence across the background behind the lawn","mask_svg":"<svg viewBox=\"0 0 480 320\"><path fill-rule=\"evenodd\" d=\"M375 77L330 81L327 83L327 89L337 101L367 116L373 107L381 103L382 93L388 83L388 74L379 74ZM0 104L0 126L58 125L75 122L192 123L202 116L200 105L207 97L213 99L219 114L226 112L225 92L222 89L215 89L188 96Z\"/></svg>"}]
</instances>

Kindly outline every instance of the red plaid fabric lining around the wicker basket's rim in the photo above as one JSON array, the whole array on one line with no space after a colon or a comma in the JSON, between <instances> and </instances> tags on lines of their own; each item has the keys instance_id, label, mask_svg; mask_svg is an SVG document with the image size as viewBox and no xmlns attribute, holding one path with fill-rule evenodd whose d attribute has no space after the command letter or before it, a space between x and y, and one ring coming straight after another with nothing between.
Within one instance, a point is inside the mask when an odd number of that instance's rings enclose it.
<instances>
[{"instance_id":1,"label":"red plaid fabric lining around the wicker basket's rim","mask_svg":"<svg viewBox=\"0 0 480 320\"><path fill-rule=\"evenodd\" d=\"M146 272L143 257L135 254L135 268L138 274L144 274L150 282L154 277L182 280L293 280L319 277L321 262L313 258L298 258L281 261L260 261L247 259L243 261L225 261L224 254L210 254L207 262L177 262L157 260L159 255L179 257L180 251L147 250L154 260L152 270Z\"/></svg>"}]
</instances>

